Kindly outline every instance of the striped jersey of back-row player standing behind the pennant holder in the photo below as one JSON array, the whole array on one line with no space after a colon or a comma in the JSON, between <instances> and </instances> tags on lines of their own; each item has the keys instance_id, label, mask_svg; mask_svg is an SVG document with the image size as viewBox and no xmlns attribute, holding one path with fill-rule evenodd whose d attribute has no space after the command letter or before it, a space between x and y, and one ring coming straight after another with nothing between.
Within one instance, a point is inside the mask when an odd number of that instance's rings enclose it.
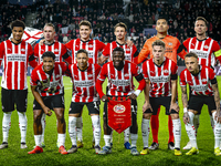
<instances>
[{"instance_id":1,"label":"striped jersey of back-row player standing behind the pennant holder","mask_svg":"<svg viewBox=\"0 0 221 166\"><path fill-rule=\"evenodd\" d=\"M107 43L107 45L104 48L103 55L106 58L109 58L109 61L112 61L113 50L117 46L120 46L124 49L125 60L128 60L137 64L138 52L135 44L133 44L133 46L129 48L127 44L119 44L116 41L113 41L112 43Z\"/></svg>"}]
</instances>

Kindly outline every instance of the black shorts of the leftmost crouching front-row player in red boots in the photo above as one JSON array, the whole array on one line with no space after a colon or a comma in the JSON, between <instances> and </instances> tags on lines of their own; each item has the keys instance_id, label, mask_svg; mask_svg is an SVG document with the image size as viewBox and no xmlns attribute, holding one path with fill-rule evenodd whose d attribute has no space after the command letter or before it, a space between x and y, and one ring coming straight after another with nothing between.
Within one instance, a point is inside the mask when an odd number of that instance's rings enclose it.
<instances>
[{"instance_id":1,"label":"black shorts of the leftmost crouching front-row player in red boots","mask_svg":"<svg viewBox=\"0 0 221 166\"><path fill-rule=\"evenodd\" d=\"M64 108L64 95L52 95L52 96L42 96L42 101L44 102L44 105L48 106L50 110L56 108L56 107L63 107ZM41 105L34 100L33 103L33 111L34 110L42 110Z\"/></svg>"}]
</instances>

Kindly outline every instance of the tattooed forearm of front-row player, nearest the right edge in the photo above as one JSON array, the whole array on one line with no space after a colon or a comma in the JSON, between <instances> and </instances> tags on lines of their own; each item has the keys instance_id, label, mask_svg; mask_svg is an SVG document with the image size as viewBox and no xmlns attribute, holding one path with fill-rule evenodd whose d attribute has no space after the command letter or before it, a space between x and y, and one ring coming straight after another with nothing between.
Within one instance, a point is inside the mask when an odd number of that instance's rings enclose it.
<instances>
[{"instance_id":1,"label":"tattooed forearm of front-row player, nearest the right edge","mask_svg":"<svg viewBox=\"0 0 221 166\"><path fill-rule=\"evenodd\" d=\"M219 89L218 89L218 83L212 84L212 90L213 90L213 94L214 94L214 103L217 106L217 121L218 121L218 123L221 123L220 93L219 93Z\"/></svg>"}]
</instances>

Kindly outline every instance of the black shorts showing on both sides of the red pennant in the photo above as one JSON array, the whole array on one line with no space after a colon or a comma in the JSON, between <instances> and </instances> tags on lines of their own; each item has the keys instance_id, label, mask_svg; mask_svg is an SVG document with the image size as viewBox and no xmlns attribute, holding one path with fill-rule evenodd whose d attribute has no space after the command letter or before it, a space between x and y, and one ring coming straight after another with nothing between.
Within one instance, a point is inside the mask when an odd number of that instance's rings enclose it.
<instances>
[{"instance_id":1,"label":"black shorts showing on both sides of the red pennant","mask_svg":"<svg viewBox=\"0 0 221 166\"><path fill-rule=\"evenodd\" d=\"M137 101L136 100L130 100L130 101L131 101L131 106L130 106L131 124L135 125L135 124L137 124ZM107 102L104 103L103 117L107 118ZM108 120L107 120L107 124L108 124Z\"/></svg>"}]
</instances>

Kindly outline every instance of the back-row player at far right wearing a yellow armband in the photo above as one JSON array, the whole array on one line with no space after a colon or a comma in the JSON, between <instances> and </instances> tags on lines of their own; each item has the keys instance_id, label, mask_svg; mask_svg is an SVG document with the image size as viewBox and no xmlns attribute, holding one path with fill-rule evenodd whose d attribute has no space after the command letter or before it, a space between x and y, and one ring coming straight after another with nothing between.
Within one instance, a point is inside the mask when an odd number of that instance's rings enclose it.
<instances>
[{"instance_id":1,"label":"back-row player at far right wearing a yellow armband","mask_svg":"<svg viewBox=\"0 0 221 166\"><path fill-rule=\"evenodd\" d=\"M213 39L207 37L208 22L204 18L198 17L194 22L196 37L187 39L181 48L186 49L188 52L194 52L198 55L199 64L210 66L214 69L217 60L221 62L221 50L220 45ZM189 94L191 96L191 94ZM210 114L211 126L214 129L214 122L212 114ZM194 115L193 125L196 133L199 127L199 115ZM190 149L191 143L183 147L183 149Z\"/></svg>"}]
</instances>

